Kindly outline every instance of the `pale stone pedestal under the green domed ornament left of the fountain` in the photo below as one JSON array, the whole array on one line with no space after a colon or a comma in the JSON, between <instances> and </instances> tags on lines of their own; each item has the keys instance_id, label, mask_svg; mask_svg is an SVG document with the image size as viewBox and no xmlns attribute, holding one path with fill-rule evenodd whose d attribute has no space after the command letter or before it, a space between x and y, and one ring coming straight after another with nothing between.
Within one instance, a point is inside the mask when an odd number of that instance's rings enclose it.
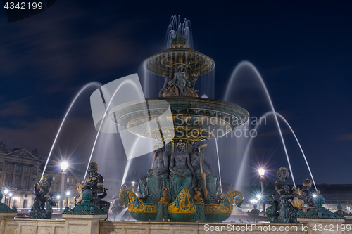
<instances>
[{"instance_id":1,"label":"pale stone pedestal under the green domed ornament left of the fountain","mask_svg":"<svg viewBox=\"0 0 352 234\"><path fill-rule=\"evenodd\" d=\"M106 219L106 214L63 214L63 219L65 219L65 233L95 234L99 233L99 221Z\"/></svg>"}]
</instances>

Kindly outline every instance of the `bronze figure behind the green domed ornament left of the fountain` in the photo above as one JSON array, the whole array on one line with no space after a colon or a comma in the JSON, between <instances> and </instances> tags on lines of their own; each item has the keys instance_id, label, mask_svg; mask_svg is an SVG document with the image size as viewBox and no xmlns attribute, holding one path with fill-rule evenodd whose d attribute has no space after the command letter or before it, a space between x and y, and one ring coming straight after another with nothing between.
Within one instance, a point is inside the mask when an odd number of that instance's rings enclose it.
<instances>
[{"instance_id":1,"label":"bronze figure behind the green domed ornament left of the fountain","mask_svg":"<svg viewBox=\"0 0 352 234\"><path fill-rule=\"evenodd\" d=\"M96 162L91 162L89 163L88 166L88 174L89 177L83 182L83 183L77 183L77 192L80 194L80 197L78 198L77 204L80 204L83 202L82 200L82 193L84 190L91 190L92 191L92 200L96 206L98 206L100 209L103 207L108 208L110 207L109 202L101 201L104 197L106 197L106 188L104 188L104 178L101 176L101 174L98 173L98 165Z\"/></svg>"}]
</instances>

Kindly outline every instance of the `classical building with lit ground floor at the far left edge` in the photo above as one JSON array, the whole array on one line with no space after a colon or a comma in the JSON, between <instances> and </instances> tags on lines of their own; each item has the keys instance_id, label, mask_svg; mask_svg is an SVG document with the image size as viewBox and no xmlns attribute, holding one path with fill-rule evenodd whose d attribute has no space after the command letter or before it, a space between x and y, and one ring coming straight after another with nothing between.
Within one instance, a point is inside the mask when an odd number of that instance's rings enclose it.
<instances>
[{"instance_id":1,"label":"classical building with lit ground floor at the far left edge","mask_svg":"<svg viewBox=\"0 0 352 234\"><path fill-rule=\"evenodd\" d=\"M33 186L39 181L42 160L38 158L37 149L32 152L19 148L7 150L5 146L0 142L0 186L4 193L2 202L9 207L30 208L34 202Z\"/></svg>"}]
</instances>

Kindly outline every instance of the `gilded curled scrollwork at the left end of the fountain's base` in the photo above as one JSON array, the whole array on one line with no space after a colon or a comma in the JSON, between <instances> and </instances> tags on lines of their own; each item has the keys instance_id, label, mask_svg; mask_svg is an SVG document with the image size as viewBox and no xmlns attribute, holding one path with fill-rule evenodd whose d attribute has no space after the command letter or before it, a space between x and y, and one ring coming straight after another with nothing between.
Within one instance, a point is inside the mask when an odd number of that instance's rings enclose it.
<instances>
[{"instance_id":1,"label":"gilded curled scrollwork at the left end of the fountain's base","mask_svg":"<svg viewBox=\"0 0 352 234\"><path fill-rule=\"evenodd\" d=\"M128 207L130 213L157 213L158 204L143 203L132 190L125 189L120 192L120 200Z\"/></svg>"}]
</instances>

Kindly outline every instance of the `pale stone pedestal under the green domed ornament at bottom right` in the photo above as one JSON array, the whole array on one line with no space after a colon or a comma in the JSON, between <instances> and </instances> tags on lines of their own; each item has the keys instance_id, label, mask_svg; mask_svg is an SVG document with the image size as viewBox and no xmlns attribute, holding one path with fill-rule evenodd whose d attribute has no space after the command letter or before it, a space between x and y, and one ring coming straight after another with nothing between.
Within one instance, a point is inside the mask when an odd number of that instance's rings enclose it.
<instances>
[{"instance_id":1,"label":"pale stone pedestal under the green domed ornament at bottom right","mask_svg":"<svg viewBox=\"0 0 352 234\"><path fill-rule=\"evenodd\" d=\"M299 223L307 223L309 226L308 234L310 233L344 233L341 231L341 224L345 222L345 219L308 219L308 218L297 218ZM345 229L346 230L346 229Z\"/></svg>"}]
</instances>

